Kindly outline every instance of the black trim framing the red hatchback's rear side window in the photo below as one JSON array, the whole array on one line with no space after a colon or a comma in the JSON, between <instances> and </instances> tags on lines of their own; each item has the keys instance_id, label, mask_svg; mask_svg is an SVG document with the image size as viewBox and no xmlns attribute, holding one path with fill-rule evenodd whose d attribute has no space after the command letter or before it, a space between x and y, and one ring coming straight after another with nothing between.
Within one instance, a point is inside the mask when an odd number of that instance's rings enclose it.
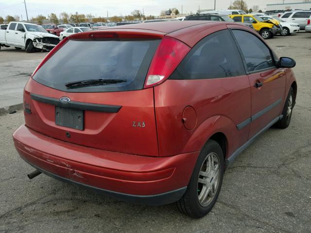
<instances>
[{"instance_id":1,"label":"black trim framing the red hatchback's rear side window","mask_svg":"<svg viewBox=\"0 0 311 233\"><path fill-rule=\"evenodd\" d=\"M245 72L245 74L238 75L238 76L230 76L230 77L222 77L222 78L208 78L208 79L236 78L236 77L241 77L241 76L244 76L244 75L248 75L248 74L249 74L249 72L248 72L248 70L247 70L246 62L245 62L245 60L244 60L244 57L241 55L241 54L242 54L242 51L241 51L240 47L237 45L236 39L235 39L233 33L231 32L231 30L230 30L229 28L225 28L225 29L222 29L222 30L213 32L213 33L221 32L221 31L224 31L224 30L228 30L228 31L229 31L229 33L231 34L232 39L234 40L234 43L235 43L236 46L237 46L237 49L238 49L239 54L240 54L240 57L241 57L241 59L242 59L242 63L243 63L243 67L244 67L244 72ZM244 31L246 31L246 30L244 30ZM202 40L204 40L207 36L212 35L213 33L210 33L210 34L204 36L201 40L199 40L195 45L192 46L191 50L192 50L198 43L200 43ZM187 59L187 57L189 56L191 50L190 50L189 53L183 58L183 60L179 63L179 65L175 68L175 70L173 71L173 73L171 74L171 76L170 76L168 79L171 79L171 80L189 80L189 79L180 78L180 77L183 77L183 76L182 76L182 75L180 74L180 72L178 71L178 67L184 62L185 59ZM179 75L177 75L176 72L177 72L177 74L179 74ZM199 80L199 79L191 79L191 80Z\"/></svg>"}]
</instances>

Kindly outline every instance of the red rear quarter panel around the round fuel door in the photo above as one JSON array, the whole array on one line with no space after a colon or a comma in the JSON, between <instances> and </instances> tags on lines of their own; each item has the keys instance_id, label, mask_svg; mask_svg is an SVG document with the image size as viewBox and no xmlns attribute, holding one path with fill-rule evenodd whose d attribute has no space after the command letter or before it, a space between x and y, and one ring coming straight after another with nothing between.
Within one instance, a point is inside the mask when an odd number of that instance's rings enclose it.
<instances>
[{"instance_id":1,"label":"red rear quarter panel around the round fuel door","mask_svg":"<svg viewBox=\"0 0 311 233\"><path fill-rule=\"evenodd\" d=\"M192 106L194 129L183 124L183 110ZM227 153L246 142L249 126L236 125L250 117L247 76L203 80L167 80L155 87L155 116L160 156L201 150L214 133L224 133Z\"/></svg>"}]
</instances>

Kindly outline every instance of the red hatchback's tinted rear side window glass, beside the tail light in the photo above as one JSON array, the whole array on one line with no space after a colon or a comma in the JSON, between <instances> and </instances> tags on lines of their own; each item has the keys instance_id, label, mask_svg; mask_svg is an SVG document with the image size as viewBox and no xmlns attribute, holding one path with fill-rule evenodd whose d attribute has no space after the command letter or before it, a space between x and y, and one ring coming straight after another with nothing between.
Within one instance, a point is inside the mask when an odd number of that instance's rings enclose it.
<instances>
[{"instance_id":1,"label":"red hatchback's tinted rear side window glass, beside the tail light","mask_svg":"<svg viewBox=\"0 0 311 233\"><path fill-rule=\"evenodd\" d=\"M183 79L212 79L245 74L239 50L228 30L212 33L196 44L177 71Z\"/></svg>"}]
</instances>

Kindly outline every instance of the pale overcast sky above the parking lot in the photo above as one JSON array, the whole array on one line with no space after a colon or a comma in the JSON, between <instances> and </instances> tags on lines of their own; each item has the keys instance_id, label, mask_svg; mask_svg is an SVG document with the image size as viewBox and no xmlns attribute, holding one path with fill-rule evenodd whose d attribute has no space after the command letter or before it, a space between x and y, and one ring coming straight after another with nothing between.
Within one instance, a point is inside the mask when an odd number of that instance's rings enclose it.
<instances>
[{"instance_id":1,"label":"pale overcast sky above the parking lot","mask_svg":"<svg viewBox=\"0 0 311 233\"><path fill-rule=\"evenodd\" d=\"M233 1L233 0L232 0ZM285 0L285 2L296 2L297 0ZM298 0L299 1L299 0ZM302 1L302 0L301 0ZM246 0L248 8L259 5L259 9L264 10L266 4L282 3L282 0ZM145 15L159 15L161 10L168 10L176 7L183 13L193 13L200 9L213 9L214 0L26 0L28 17L35 17L39 14L48 16L50 13L61 12L79 14L92 14L95 16L124 16L133 10L144 10ZM226 9L230 5L230 0L216 0L216 9ZM26 18L23 0L0 0L0 16L22 15Z\"/></svg>"}]
</instances>

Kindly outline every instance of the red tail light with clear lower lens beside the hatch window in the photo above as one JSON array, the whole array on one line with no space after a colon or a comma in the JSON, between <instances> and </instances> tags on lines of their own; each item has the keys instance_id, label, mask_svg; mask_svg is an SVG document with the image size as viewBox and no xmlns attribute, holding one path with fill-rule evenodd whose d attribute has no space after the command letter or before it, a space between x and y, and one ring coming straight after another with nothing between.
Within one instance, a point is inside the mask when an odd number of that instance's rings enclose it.
<instances>
[{"instance_id":1,"label":"red tail light with clear lower lens beside the hatch window","mask_svg":"<svg viewBox=\"0 0 311 233\"><path fill-rule=\"evenodd\" d=\"M183 42L165 36L155 51L144 88L164 82L189 51L190 47Z\"/></svg>"}]
</instances>

